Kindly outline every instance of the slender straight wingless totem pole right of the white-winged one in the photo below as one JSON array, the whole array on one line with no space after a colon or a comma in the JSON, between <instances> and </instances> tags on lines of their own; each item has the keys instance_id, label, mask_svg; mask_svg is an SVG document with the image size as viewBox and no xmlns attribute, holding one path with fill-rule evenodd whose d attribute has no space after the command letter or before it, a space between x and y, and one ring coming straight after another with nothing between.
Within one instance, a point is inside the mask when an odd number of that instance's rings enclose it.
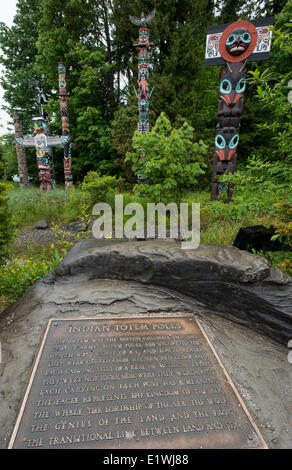
<instances>
[{"instance_id":1,"label":"slender straight wingless totem pole right of the white-winged one","mask_svg":"<svg viewBox=\"0 0 292 470\"><path fill-rule=\"evenodd\" d=\"M63 62L58 63L58 75L59 75L60 109L61 109L61 118L62 118L62 135L68 137L68 142L64 145L65 189L71 189L73 186L72 159L71 159L72 144L70 143L66 67Z\"/></svg>"}]
</instances>

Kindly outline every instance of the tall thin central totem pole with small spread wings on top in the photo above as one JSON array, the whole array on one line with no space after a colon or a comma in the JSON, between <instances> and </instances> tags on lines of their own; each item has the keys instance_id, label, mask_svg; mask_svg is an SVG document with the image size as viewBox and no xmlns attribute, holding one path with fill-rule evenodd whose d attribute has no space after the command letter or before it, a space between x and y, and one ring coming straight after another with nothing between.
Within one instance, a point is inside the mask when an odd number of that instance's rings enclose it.
<instances>
[{"instance_id":1,"label":"tall thin central totem pole with small spread wings on top","mask_svg":"<svg viewBox=\"0 0 292 470\"><path fill-rule=\"evenodd\" d=\"M148 111L149 111L149 103L150 98L153 92L149 92L149 51L150 46L153 43L149 42L149 29L147 28L147 24L153 20L155 16L156 10L154 9L151 13L149 13L146 17L144 17L144 13L142 13L141 18L137 18L135 16L130 16L129 19L131 23L135 24L136 26L140 26L139 29L139 42L138 44L134 44L138 51L138 92L135 89L135 94L138 99L138 131L142 134L146 134L149 132L149 118L148 118ZM143 155L141 155L141 159L143 159ZM148 181L143 176L141 169L141 173L138 174L138 183L145 184Z\"/></svg>"}]
</instances>

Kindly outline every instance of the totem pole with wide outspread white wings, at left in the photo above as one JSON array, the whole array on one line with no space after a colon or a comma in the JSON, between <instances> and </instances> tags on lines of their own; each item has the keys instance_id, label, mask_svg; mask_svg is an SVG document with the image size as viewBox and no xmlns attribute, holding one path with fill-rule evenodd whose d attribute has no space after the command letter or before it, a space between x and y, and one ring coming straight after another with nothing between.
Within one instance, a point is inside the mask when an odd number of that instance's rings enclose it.
<instances>
[{"instance_id":1,"label":"totem pole with wide outspread white wings, at left","mask_svg":"<svg viewBox=\"0 0 292 470\"><path fill-rule=\"evenodd\" d=\"M30 83L37 90L37 104L39 115L32 119L34 135L23 138L15 137L15 142L21 147L35 147L37 154L37 165L39 169L40 189L51 190L55 186L54 162L52 147L64 145L59 137L50 136L48 116L43 109L43 104L48 102L47 96L42 88L42 80L35 78Z\"/></svg>"}]
</instances>

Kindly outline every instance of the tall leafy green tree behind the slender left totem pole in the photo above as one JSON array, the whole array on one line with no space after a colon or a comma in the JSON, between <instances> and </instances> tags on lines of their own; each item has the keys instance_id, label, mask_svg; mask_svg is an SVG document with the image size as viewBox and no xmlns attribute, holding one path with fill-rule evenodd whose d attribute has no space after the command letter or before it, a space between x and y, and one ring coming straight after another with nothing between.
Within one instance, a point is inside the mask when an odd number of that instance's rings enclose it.
<instances>
[{"instance_id":1,"label":"tall leafy green tree behind the slender left totem pole","mask_svg":"<svg viewBox=\"0 0 292 470\"><path fill-rule=\"evenodd\" d=\"M37 63L51 89L58 89L58 62L63 61L67 68L75 180L89 170L116 171L110 131L115 110L114 64L107 8L106 1L48 0L43 3L39 22ZM47 109L56 116L52 128L60 129L56 94Z\"/></svg>"}]
</instances>

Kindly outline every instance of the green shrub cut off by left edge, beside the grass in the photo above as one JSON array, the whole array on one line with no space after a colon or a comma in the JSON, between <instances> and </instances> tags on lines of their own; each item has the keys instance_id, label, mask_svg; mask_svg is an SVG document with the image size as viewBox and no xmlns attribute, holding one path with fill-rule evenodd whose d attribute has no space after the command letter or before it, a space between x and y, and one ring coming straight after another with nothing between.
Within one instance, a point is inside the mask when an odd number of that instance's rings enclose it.
<instances>
[{"instance_id":1,"label":"green shrub cut off by left edge, beside the grass","mask_svg":"<svg viewBox=\"0 0 292 470\"><path fill-rule=\"evenodd\" d=\"M11 220L6 186L0 183L0 261L8 256L14 234L15 225Z\"/></svg>"}]
</instances>

